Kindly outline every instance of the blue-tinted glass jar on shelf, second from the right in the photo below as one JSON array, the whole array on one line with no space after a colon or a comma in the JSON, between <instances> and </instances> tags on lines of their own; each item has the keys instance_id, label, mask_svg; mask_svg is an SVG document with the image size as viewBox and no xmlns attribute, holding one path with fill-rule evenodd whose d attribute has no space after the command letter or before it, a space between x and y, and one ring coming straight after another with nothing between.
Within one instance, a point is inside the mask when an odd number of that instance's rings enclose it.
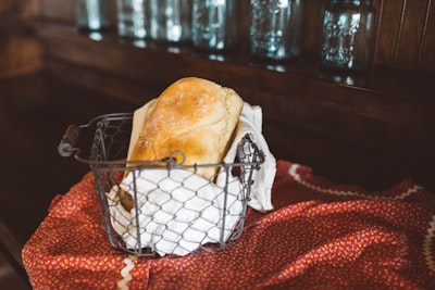
<instances>
[{"instance_id":1,"label":"blue-tinted glass jar on shelf, second from the right","mask_svg":"<svg viewBox=\"0 0 435 290\"><path fill-rule=\"evenodd\" d=\"M302 0L251 0L250 53L284 60L300 55Z\"/></svg>"}]
</instances>

